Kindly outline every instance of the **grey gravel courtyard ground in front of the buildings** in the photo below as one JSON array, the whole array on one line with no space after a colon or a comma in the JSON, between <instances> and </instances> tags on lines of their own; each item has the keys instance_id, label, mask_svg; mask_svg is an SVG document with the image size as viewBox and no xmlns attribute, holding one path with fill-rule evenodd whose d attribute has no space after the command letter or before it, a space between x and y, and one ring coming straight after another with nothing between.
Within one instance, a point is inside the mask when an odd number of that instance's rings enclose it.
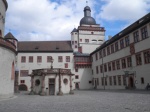
<instances>
[{"instance_id":1,"label":"grey gravel courtyard ground in front of the buildings","mask_svg":"<svg viewBox=\"0 0 150 112\"><path fill-rule=\"evenodd\" d=\"M150 91L85 90L64 96L16 96L0 100L0 112L150 112Z\"/></svg>"}]
</instances>

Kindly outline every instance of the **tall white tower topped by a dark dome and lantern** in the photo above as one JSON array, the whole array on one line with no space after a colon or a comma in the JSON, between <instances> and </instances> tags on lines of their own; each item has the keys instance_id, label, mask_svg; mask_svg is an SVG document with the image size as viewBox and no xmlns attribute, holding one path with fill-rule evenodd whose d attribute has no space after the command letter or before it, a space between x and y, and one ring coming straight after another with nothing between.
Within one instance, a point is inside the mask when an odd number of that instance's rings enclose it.
<instances>
[{"instance_id":1,"label":"tall white tower topped by a dark dome and lantern","mask_svg":"<svg viewBox=\"0 0 150 112\"><path fill-rule=\"evenodd\" d=\"M80 25L71 32L71 41L74 52L89 54L103 43L105 29L96 24L95 19L91 17L89 6L83 11L84 17L80 20Z\"/></svg>"}]
</instances>

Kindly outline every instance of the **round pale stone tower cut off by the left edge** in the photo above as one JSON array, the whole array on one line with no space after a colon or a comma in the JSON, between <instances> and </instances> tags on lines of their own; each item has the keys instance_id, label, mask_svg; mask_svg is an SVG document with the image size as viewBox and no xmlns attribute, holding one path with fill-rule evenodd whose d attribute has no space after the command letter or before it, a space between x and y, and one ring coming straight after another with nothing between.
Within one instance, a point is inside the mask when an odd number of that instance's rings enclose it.
<instances>
[{"instance_id":1,"label":"round pale stone tower cut off by the left edge","mask_svg":"<svg viewBox=\"0 0 150 112\"><path fill-rule=\"evenodd\" d=\"M17 52L12 38L8 36L9 39L4 38L7 7L7 1L0 0L0 99L12 97L14 94L15 59Z\"/></svg>"}]
</instances>

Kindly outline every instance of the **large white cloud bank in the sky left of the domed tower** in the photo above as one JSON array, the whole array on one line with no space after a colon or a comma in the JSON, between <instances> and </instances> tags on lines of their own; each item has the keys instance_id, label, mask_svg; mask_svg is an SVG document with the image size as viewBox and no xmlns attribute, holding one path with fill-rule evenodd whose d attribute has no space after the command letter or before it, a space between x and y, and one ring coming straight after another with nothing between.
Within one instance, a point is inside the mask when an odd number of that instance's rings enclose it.
<instances>
[{"instance_id":1,"label":"large white cloud bank in the sky left of the domed tower","mask_svg":"<svg viewBox=\"0 0 150 112\"><path fill-rule=\"evenodd\" d=\"M6 33L22 40L70 40L83 17L85 0L7 0ZM93 2L89 0L89 6Z\"/></svg>"}]
</instances>

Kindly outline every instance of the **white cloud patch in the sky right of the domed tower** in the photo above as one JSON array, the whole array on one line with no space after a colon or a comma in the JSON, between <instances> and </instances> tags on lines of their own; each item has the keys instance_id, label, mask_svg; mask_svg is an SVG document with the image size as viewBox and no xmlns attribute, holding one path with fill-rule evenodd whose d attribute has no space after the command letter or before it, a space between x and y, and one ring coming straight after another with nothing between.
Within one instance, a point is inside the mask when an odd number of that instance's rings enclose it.
<instances>
[{"instance_id":1,"label":"white cloud patch in the sky right of the domed tower","mask_svg":"<svg viewBox=\"0 0 150 112\"><path fill-rule=\"evenodd\" d=\"M103 0L99 18L135 21L150 11L149 0Z\"/></svg>"}]
</instances>

